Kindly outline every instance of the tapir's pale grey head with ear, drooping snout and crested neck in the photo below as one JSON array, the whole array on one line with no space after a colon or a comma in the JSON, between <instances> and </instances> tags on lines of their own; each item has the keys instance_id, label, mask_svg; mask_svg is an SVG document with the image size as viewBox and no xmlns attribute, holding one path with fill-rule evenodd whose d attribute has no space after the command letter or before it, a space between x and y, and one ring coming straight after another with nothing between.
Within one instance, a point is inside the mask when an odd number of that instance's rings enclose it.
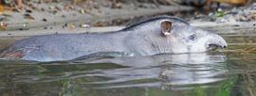
<instances>
[{"instance_id":1,"label":"tapir's pale grey head with ear, drooping snout and crested neck","mask_svg":"<svg viewBox=\"0 0 256 96\"><path fill-rule=\"evenodd\" d=\"M181 19L159 16L150 20L130 25L126 29L137 32L145 31L147 39L153 44L171 53L198 53L228 47L227 42L215 33L194 28ZM144 37L145 38L145 37Z\"/></svg>"}]
</instances>

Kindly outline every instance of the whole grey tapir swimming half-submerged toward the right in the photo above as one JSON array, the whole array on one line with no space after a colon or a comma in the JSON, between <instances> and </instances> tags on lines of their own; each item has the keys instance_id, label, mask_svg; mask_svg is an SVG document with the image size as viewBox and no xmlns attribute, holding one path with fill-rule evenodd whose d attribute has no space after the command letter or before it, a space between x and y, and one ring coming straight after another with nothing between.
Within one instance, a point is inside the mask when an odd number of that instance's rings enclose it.
<instances>
[{"instance_id":1,"label":"whole grey tapir swimming half-submerged toward the right","mask_svg":"<svg viewBox=\"0 0 256 96\"><path fill-rule=\"evenodd\" d=\"M34 36L9 45L0 56L60 61L91 56L201 53L227 46L217 34L192 27L176 17L157 16L114 32Z\"/></svg>"}]
</instances>

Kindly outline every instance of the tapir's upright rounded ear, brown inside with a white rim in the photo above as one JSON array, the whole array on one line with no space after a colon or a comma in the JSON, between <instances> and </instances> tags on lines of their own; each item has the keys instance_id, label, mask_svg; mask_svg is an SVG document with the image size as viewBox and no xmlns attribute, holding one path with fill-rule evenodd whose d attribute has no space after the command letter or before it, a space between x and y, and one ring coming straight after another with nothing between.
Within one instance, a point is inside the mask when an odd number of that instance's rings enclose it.
<instances>
[{"instance_id":1,"label":"tapir's upright rounded ear, brown inside with a white rim","mask_svg":"<svg viewBox=\"0 0 256 96\"><path fill-rule=\"evenodd\" d=\"M170 36L172 30L172 23L170 21L163 21L161 23L161 31L164 36Z\"/></svg>"}]
</instances>

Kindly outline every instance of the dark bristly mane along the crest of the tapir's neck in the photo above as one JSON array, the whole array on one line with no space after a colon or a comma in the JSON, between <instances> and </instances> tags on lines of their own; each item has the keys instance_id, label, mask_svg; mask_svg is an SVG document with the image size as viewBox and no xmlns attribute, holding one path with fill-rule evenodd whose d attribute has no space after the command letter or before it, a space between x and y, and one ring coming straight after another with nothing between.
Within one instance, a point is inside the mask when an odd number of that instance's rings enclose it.
<instances>
[{"instance_id":1,"label":"dark bristly mane along the crest of the tapir's neck","mask_svg":"<svg viewBox=\"0 0 256 96\"><path fill-rule=\"evenodd\" d=\"M152 21L159 20L159 19L173 19L173 20L179 21L184 24L189 24L180 18L176 18L176 17L172 17L172 16L168 16L168 15L162 15L162 16L156 16L156 17L149 18L149 19L144 19L144 20L138 21L137 23L134 23L134 24L128 24L122 30L128 30L128 29L131 29L131 28L137 26L138 24L145 24L145 23L152 22Z\"/></svg>"}]
</instances>

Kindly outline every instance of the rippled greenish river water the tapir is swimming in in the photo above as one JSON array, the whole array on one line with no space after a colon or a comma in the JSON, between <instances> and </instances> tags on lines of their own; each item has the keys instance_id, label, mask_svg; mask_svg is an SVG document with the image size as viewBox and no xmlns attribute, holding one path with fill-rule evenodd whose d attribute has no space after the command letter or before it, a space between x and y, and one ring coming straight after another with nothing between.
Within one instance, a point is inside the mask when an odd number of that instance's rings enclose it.
<instances>
[{"instance_id":1,"label":"rippled greenish river water the tapir is swimming in","mask_svg":"<svg viewBox=\"0 0 256 96\"><path fill-rule=\"evenodd\" d=\"M229 42L226 51L48 63L1 60L0 96L256 96L256 31L218 32Z\"/></svg>"}]
</instances>

